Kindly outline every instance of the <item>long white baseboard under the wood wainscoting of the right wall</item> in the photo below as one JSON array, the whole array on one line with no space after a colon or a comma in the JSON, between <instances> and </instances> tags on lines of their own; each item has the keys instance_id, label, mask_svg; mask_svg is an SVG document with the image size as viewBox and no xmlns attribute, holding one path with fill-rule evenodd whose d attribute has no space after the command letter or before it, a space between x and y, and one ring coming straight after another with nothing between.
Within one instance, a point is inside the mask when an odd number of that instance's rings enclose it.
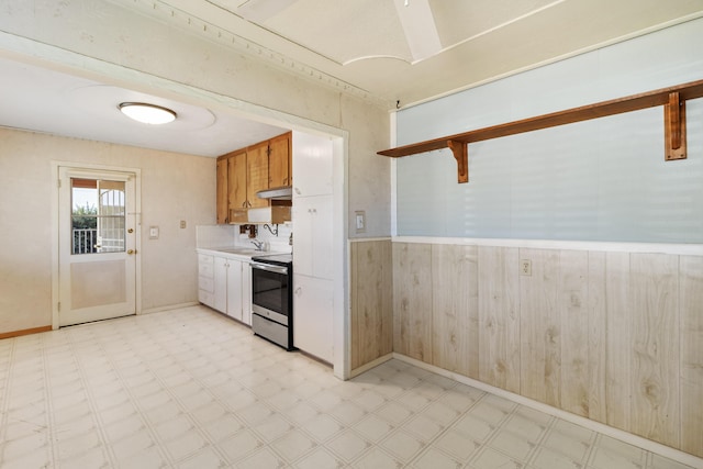
<instances>
[{"instance_id":1,"label":"long white baseboard under the wood wainscoting of the right wall","mask_svg":"<svg viewBox=\"0 0 703 469\"><path fill-rule=\"evenodd\" d=\"M627 433L625 431L614 428L612 426L602 424L600 422L592 421L590 418L582 417L580 415L572 414L570 412L562 411L557 407L553 407L551 405L544 404L542 402L534 401L529 398L525 398L524 395L515 394L514 392L505 391L504 389L495 388L493 386L487 384L482 381L477 381L471 378L467 378L462 375L457 375L455 372L445 370L439 367L435 367L433 365L425 364L423 361L416 360L414 358L408 357L402 354L393 353L392 358L397 358L401 361L404 361L410 365L414 365L417 368L422 368L424 370L431 371L433 373L443 376L445 378L450 378L455 381L458 381L462 384L470 386L472 388L479 389L481 391L490 392L491 394L507 399L515 403L525 405L527 407L535 409L537 411L544 412L546 414L553 415L555 417L565 420L567 422L574 423L582 427L585 427L590 431L602 433L603 435L610 436L615 439L620 439L621 442L627 443L629 445L637 446L639 448L646 449L647 451L655 453L657 455L663 456L665 458L672 459L677 462L681 462L682 465L691 466L696 469L703 469L703 458L699 458L688 453L680 451L670 446L662 445L660 443L652 442L647 438L643 438L641 436L633 435L632 433ZM386 358L386 357L383 357ZM383 360L386 361L386 360ZM369 364L370 365L370 364ZM376 364L380 365L380 364ZM359 368L360 369L360 368ZM356 370L355 370L356 371Z\"/></svg>"}]
</instances>

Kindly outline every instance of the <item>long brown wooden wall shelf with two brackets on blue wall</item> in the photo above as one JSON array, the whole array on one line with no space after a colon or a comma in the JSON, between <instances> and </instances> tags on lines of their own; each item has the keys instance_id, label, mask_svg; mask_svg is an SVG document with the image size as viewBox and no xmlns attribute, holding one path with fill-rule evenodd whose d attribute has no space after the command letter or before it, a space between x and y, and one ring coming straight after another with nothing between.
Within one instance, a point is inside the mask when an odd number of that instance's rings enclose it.
<instances>
[{"instance_id":1,"label":"long brown wooden wall shelf with two brackets on blue wall","mask_svg":"<svg viewBox=\"0 0 703 469\"><path fill-rule=\"evenodd\" d=\"M540 129L555 127L624 112L639 111L663 105L665 110L665 159L684 159L687 157L685 139L685 101L703 97L703 80L691 81L671 88L662 88L640 94L603 101L581 108L568 109L536 118L509 122L464 132L446 137L428 139L411 145L378 152L379 155L393 158L450 148L457 160L459 182L469 181L468 144L491 138L504 137Z\"/></svg>"}]
</instances>

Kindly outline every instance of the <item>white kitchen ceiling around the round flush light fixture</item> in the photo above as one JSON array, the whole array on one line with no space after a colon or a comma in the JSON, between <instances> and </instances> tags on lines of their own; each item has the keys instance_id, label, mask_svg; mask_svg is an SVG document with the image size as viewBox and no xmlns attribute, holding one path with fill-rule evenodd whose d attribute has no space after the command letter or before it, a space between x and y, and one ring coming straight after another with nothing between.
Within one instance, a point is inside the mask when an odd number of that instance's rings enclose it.
<instances>
[{"instance_id":1,"label":"white kitchen ceiling around the round flush light fixture","mask_svg":"<svg viewBox=\"0 0 703 469\"><path fill-rule=\"evenodd\" d=\"M174 110L167 125L145 125L122 114L122 102ZM219 156L287 132L85 78L0 57L0 125L201 156Z\"/></svg>"}]
</instances>

